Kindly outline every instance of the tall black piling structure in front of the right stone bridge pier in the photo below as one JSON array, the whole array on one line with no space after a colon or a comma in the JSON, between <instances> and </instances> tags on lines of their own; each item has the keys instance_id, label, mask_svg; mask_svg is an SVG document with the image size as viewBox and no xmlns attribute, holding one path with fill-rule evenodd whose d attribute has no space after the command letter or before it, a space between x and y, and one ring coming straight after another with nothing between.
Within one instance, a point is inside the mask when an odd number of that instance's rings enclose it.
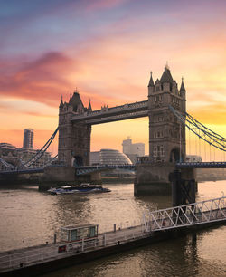
<instances>
[{"instance_id":1,"label":"tall black piling structure in front of the right stone bridge pier","mask_svg":"<svg viewBox=\"0 0 226 277\"><path fill-rule=\"evenodd\" d=\"M170 181L172 182L173 206L195 202L196 182L194 178L184 179L180 170L174 170L174 172L170 174Z\"/></svg>"}]
</instances>

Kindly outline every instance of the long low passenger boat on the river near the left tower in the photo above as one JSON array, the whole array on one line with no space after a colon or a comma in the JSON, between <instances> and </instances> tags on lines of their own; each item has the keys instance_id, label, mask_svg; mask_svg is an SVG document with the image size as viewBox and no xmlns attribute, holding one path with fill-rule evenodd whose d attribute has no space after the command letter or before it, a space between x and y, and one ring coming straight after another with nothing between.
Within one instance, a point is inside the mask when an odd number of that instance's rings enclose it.
<instances>
[{"instance_id":1,"label":"long low passenger boat on the river near the left tower","mask_svg":"<svg viewBox=\"0 0 226 277\"><path fill-rule=\"evenodd\" d=\"M69 195L69 194L89 194L89 193L105 193L111 190L103 186L92 186L89 184L81 184L78 186L59 186L48 190L52 195Z\"/></svg>"}]
</instances>

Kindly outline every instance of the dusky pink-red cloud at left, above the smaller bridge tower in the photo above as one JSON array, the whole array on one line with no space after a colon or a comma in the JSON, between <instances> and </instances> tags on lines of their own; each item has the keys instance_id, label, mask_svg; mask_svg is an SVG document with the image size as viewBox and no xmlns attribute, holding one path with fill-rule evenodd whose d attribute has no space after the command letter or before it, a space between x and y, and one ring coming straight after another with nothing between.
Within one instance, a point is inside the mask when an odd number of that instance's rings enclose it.
<instances>
[{"instance_id":1,"label":"dusky pink-red cloud at left, above the smaller bridge tower","mask_svg":"<svg viewBox=\"0 0 226 277\"><path fill-rule=\"evenodd\" d=\"M46 53L32 62L0 61L6 71L0 76L0 95L56 105L70 87L66 75L74 70L71 59L62 53Z\"/></svg>"}]
</instances>

